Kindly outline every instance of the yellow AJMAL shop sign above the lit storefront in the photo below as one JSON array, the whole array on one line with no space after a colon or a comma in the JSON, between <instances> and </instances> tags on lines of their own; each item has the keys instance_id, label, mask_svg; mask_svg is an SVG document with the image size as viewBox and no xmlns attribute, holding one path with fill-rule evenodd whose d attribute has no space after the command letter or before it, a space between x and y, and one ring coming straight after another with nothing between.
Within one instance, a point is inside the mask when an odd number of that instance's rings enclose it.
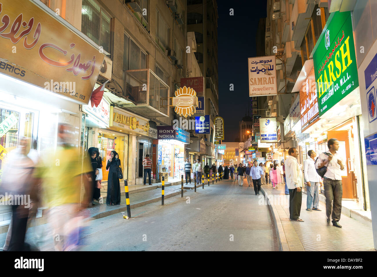
<instances>
[{"instance_id":1,"label":"yellow AJMAL shop sign above the lit storefront","mask_svg":"<svg viewBox=\"0 0 377 277\"><path fill-rule=\"evenodd\" d=\"M136 117L135 114L126 112L116 107L110 107L110 129L121 128L145 136L149 135L149 120ZM116 127L116 128L114 128Z\"/></svg>"}]
</instances>

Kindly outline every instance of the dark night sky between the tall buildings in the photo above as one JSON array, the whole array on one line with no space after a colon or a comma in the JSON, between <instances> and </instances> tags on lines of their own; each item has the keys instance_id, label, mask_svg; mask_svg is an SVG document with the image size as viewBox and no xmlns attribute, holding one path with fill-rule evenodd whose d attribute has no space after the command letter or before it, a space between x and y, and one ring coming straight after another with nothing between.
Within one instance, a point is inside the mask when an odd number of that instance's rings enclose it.
<instances>
[{"instance_id":1,"label":"dark night sky between the tall buildings","mask_svg":"<svg viewBox=\"0 0 377 277\"><path fill-rule=\"evenodd\" d=\"M224 118L224 140L239 136L239 121L248 109L247 58L256 56L255 36L259 18L267 17L267 0L218 0L219 116ZM234 15L229 15L229 9ZM234 91L230 91L230 84ZM251 111L250 111L251 115Z\"/></svg>"}]
</instances>

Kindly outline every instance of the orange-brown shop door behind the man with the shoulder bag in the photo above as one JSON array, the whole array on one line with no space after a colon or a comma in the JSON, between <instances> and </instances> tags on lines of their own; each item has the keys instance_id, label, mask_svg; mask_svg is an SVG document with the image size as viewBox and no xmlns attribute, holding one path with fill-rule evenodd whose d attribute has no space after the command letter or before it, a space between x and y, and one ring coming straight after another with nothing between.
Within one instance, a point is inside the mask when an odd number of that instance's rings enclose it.
<instances>
[{"instance_id":1,"label":"orange-brown shop door behind the man with the shoulder bag","mask_svg":"<svg viewBox=\"0 0 377 277\"><path fill-rule=\"evenodd\" d=\"M328 139L336 138L339 141L340 155L344 159L345 169L342 171L342 199L357 199L356 177L353 171L353 159L351 159L351 147L353 148L353 140L349 137L349 131L328 131ZM351 141L350 141L351 140Z\"/></svg>"}]
</instances>

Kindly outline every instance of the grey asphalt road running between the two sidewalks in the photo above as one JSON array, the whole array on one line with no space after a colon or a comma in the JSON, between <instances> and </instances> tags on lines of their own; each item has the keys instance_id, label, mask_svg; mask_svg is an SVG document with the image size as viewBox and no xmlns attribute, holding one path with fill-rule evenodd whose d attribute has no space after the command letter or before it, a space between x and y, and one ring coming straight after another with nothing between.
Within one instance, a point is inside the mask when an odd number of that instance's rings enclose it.
<instances>
[{"instance_id":1,"label":"grey asphalt road running between the two sidewalks","mask_svg":"<svg viewBox=\"0 0 377 277\"><path fill-rule=\"evenodd\" d=\"M189 199L187 199L189 197ZM223 180L197 192L91 221L87 251L277 251L268 206L246 179ZM261 204L262 203L262 204Z\"/></svg>"}]
</instances>

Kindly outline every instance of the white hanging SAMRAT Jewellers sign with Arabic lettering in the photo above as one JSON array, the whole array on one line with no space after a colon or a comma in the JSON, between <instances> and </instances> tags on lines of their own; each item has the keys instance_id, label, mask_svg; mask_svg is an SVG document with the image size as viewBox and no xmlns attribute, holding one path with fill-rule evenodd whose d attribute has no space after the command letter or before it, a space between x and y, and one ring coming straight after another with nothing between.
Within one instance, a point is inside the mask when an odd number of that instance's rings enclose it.
<instances>
[{"instance_id":1,"label":"white hanging SAMRAT Jewellers sign with Arabic lettering","mask_svg":"<svg viewBox=\"0 0 377 277\"><path fill-rule=\"evenodd\" d=\"M276 95L276 58L248 58L249 96Z\"/></svg>"}]
</instances>

